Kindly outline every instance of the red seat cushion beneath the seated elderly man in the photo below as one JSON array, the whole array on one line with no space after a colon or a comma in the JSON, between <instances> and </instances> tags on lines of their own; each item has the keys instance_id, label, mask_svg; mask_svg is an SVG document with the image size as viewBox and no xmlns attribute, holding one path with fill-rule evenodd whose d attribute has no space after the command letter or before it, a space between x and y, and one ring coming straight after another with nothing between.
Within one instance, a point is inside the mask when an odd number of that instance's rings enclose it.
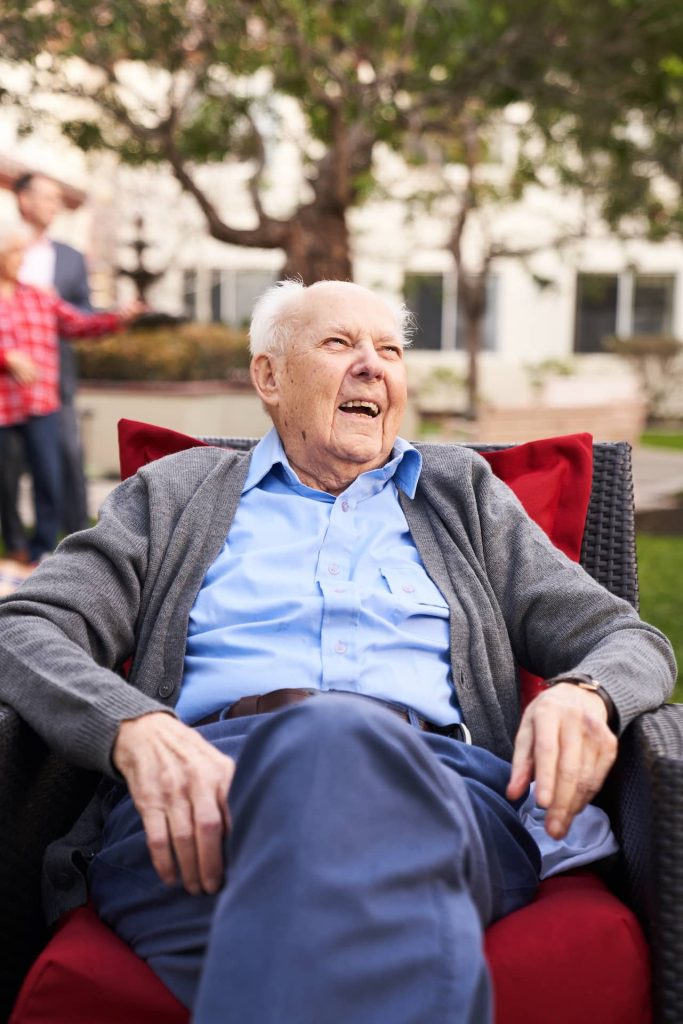
<instances>
[{"instance_id":1,"label":"red seat cushion beneath the seated elderly man","mask_svg":"<svg viewBox=\"0 0 683 1024\"><path fill-rule=\"evenodd\" d=\"M485 953L497 1024L650 1022L638 923L588 872L544 882L533 903L488 929ZM81 907L32 968L9 1024L186 1024L188 1016L151 968Z\"/></svg>"}]
</instances>

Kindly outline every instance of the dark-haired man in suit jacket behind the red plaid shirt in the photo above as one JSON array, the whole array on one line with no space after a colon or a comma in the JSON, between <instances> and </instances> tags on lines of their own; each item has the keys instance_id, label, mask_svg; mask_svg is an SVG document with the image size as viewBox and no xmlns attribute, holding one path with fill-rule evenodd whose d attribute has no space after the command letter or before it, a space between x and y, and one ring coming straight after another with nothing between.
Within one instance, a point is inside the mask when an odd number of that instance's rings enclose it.
<instances>
[{"instance_id":1,"label":"dark-haired man in suit jacket behind the red plaid shirt","mask_svg":"<svg viewBox=\"0 0 683 1024\"><path fill-rule=\"evenodd\" d=\"M90 289L83 254L62 242L53 242L47 231L62 210L63 197L56 181L43 174L23 174L14 183L19 213L31 232L19 280L57 295L81 311L89 311ZM76 355L65 338L59 339L59 395L57 417L61 461L61 527L72 534L88 525L88 507L83 450L74 400L77 387ZM5 550L10 558L30 558L18 514L18 482L25 453L18 431L12 433L0 465L0 522Z\"/></svg>"}]
</instances>

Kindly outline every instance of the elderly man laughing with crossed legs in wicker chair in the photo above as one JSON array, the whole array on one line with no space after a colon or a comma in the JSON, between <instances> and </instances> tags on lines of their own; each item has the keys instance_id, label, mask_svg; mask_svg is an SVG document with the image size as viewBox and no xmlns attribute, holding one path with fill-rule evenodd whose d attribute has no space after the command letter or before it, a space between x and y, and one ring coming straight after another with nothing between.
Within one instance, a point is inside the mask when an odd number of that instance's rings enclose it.
<instances>
[{"instance_id":1,"label":"elderly man laughing with crossed legs in wicker chair","mask_svg":"<svg viewBox=\"0 0 683 1024\"><path fill-rule=\"evenodd\" d=\"M529 782L557 847L672 687L661 634L483 460L397 436L402 321L350 284L266 293L273 430L140 470L0 607L0 697L109 779L48 910L89 863L198 1022L489 1020L482 929L544 852ZM521 721L515 659L553 683Z\"/></svg>"}]
</instances>

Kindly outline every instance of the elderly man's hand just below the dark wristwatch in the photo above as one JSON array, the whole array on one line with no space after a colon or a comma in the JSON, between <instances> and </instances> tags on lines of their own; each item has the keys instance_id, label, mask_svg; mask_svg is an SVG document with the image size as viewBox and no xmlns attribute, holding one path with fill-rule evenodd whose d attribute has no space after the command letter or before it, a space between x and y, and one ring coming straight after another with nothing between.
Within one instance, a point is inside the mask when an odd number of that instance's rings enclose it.
<instances>
[{"instance_id":1,"label":"elderly man's hand just below the dark wristwatch","mask_svg":"<svg viewBox=\"0 0 683 1024\"><path fill-rule=\"evenodd\" d=\"M602 785L616 757L616 737L607 710L596 693L558 683L524 712L515 739L507 795L517 800L532 778L540 807L547 808L546 830L566 835L574 814Z\"/></svg>"}]
</instances>

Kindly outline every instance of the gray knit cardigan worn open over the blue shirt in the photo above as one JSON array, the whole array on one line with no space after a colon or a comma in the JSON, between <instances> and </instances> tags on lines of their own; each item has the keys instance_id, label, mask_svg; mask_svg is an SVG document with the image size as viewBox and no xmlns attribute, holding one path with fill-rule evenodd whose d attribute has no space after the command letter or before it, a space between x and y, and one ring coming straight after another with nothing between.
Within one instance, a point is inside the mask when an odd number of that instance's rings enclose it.
<instances>
[{"instance_id":1,"label":"gray knit cardigan worn open over the blue shirt","mask_svg":"<svg viewBox=\"0 0 683 1024\"><path fill-rule=\"evenodd\" d=\"M558 552L483 459L418 446L418 490L400 502L451 607L453 677L473 741L510 757L515 663L544 677L574 670L600 679L621 729L666 700L675 678L666 638ZM65 759L115 778L121 721L175 703L189 611L249 459L204 447L144 467L110 496L96 526L68 538L0 601L0 699ZM129 657L126 682L119 670ZM73 853L96 849L100 821L95 798L52 848L48 916L85 898Z\"/></svg>"}]
</instances>

